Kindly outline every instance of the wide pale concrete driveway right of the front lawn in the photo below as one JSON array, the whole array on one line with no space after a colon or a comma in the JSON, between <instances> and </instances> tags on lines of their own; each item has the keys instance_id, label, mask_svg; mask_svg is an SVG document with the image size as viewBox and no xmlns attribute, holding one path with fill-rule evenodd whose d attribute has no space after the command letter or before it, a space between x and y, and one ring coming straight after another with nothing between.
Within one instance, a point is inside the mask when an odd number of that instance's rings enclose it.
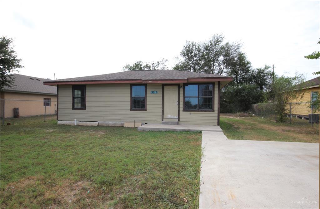
<instances>
[{"instance_id":1,"label":"wide pale concrete driveway right of the front lawn","mask_svg":"<svg viewBox=\"0 0 320 209\"><path fill-rule=\"evenodd\" d=\"M202 132L199 208L318 208L319 144Z\"/></svg>"}]
</instances>

